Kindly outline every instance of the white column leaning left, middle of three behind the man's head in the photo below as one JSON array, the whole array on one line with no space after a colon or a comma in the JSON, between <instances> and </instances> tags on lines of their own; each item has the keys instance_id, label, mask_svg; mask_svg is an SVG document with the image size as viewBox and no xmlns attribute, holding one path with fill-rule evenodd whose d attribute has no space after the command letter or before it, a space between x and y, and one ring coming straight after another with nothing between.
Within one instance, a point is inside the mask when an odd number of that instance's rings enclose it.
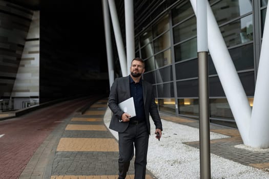
<instances>
[{"instance_id":1,"label":"white column leaning left, middle of three behind the man's head","mask_svg":"<svg viewBox=\"0 0 269 179\"><path fill-rule=\"evenodd\" d=\"M112 19L112 25L114 30L114 36L116 39L117 51L119 56L120 68L122 76L127 76L126 54L123 46L122 36L119 27L118 14L114 0L108 0L110 16Z\"/></svg>"}]
</instances>

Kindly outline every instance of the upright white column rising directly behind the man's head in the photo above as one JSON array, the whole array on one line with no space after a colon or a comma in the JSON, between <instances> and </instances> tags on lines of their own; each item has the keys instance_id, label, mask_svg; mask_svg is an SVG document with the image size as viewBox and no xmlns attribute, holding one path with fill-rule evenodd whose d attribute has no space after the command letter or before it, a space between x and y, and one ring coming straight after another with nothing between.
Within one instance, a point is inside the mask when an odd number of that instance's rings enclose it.
<instances>
[{"instance_id":1,"label":"upright white column rising directly behind the man's head","mask_svg":"<svg viewBox=\"0 0 269 179\"><path fill-rule=\"evenodd\" d=\"M130 74L131 62L135 58L134 44L134 5L133 0L125 0L125 29L126 29L126 53L127 73Z\"/></svg>"}]
</instances>

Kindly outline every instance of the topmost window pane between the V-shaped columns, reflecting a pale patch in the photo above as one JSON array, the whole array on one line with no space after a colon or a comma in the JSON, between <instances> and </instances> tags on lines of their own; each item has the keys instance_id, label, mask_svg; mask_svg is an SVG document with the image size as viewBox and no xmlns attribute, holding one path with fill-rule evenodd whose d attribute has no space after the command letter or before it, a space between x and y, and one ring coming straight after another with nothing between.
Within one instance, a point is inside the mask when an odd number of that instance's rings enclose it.
<instances>
[{"instance_id":1,"label":"topmost window pane between the V-shaped columns, reflecting a pale patch","mask_svg":"<svg viewBox=\"0 0 269 179\"><path fill-rule=\"evenodd\" d=\"M245 0L223 0L213 5L211 8L218 25L220 25L226 21L252 12L252 3L251 1Z\"/></svg>"}]
</instances>

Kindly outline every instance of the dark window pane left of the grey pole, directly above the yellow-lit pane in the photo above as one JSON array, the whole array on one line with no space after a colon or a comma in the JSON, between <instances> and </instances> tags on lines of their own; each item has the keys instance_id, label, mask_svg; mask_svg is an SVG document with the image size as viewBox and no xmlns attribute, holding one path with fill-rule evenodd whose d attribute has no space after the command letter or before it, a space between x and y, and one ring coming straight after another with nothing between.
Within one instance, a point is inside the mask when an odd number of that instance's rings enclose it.
<instances>
[{"instance_id":1,"label":"dark window pane left of the grey pole, directly above the yellow-lit pane","mask_svg":"<svg viewBox=\"0 0 269 179\"><path fill-rule=\"evenodd\" d=\"M198 80L178 81L178 97L198 97Z\"/></svg>"}]
</instances>

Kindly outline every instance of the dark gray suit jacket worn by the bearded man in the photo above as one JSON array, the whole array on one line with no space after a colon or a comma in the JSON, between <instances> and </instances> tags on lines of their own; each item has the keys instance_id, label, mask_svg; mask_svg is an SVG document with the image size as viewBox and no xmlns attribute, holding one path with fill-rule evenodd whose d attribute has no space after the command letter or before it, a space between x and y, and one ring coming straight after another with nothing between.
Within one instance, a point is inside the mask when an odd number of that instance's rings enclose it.
<instances>
[{"instance_id":1,"label":"dark gray suit jacket worn by the bearded man","mask_svg":"<svg viewBox=\"0 0 269 179\"><path fill-rule=\"evenodd\" d=\"M142 79L140 79L142 80ZM150 118L151 115L156 128L162 130L160 115L155 103L153 86L151 83L142 80L144 113L148 130L150 133ZM127 100L131 97L130 93L130 77L116 78L110 89L108 106L113 112L109 128L118 132L123 132L127 129L129 122L119 122L121 115L124 113L118 107L118 103Z\"/></svg>"}]
</instances>

